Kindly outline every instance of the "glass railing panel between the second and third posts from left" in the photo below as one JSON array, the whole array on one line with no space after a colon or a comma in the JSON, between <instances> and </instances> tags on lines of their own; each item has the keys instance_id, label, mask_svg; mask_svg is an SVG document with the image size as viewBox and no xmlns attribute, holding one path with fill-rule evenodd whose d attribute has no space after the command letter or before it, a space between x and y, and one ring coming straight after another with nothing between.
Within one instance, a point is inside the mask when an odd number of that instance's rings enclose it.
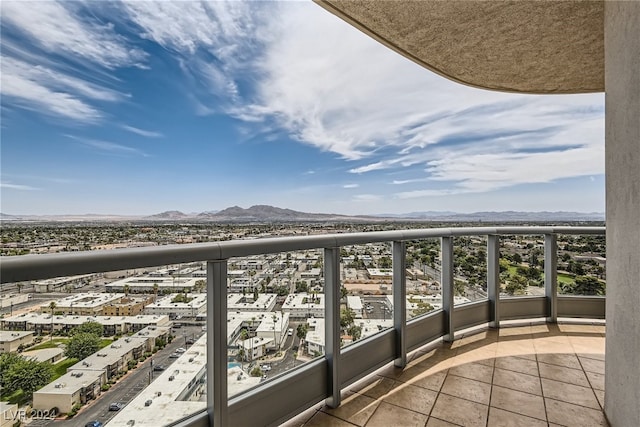
<instances>
[{"instance_id":1,"label":"glass railing panel between the second and third posts from left","mask_svg":"<svg viewBox=\"0 0 640 427\"><path fill-rule=\"evenodd\" d=\"M342 347L393 327L392 260L390 242L341 248Z\"/></svg>"}]
</instances>

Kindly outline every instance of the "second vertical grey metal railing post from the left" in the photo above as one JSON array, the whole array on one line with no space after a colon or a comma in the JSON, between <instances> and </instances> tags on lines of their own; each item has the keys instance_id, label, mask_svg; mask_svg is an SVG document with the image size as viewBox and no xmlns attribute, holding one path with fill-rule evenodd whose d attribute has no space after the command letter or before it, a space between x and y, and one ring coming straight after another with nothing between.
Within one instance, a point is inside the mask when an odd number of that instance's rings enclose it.
<instances>
[{"instance_id":1,"label":"second vertical grey metal railing post from the left","mask_svg":"<svg viewBox=\"0 0 640 427\"><path fill-rule=\"evenodd\" d=\"M328 365L326 404L340 406L340 248L324 250L325 358Z\"/></svg>"}]
</instances>

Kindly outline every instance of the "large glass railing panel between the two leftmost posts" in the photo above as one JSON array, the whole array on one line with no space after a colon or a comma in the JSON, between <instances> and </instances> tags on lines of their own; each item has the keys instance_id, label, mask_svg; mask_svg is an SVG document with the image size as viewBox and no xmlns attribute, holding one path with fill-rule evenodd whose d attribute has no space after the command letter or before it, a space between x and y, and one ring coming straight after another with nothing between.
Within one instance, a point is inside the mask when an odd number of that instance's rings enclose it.
<instances>
[{"instance_id":1,"label":"large glass railing panel between the two leftmost posts","mask_svg":"<svg viewBox=\"0 0 640 427\"><path fill-rule=\"evenodd\" d=\"M322 249L228 263L229 397L324 355Z\"/></svg>"}]
</instances>

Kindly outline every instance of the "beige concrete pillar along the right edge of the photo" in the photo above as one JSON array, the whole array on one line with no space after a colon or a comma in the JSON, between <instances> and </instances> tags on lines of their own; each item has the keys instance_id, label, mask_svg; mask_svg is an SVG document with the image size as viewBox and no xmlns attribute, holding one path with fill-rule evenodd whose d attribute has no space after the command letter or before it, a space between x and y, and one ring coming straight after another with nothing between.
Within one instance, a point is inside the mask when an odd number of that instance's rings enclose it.
<instances>
[{"instance_id":1,"label":"beige concrete pillar along the right edge of the photo","mask_svg":"<svg viewBox=\"0 0 640 427\"><path fill-rule=\"evenodd\" d=\"M605 2L605 413L640 426L640 2Z\"/></svg>"}]
</instances>

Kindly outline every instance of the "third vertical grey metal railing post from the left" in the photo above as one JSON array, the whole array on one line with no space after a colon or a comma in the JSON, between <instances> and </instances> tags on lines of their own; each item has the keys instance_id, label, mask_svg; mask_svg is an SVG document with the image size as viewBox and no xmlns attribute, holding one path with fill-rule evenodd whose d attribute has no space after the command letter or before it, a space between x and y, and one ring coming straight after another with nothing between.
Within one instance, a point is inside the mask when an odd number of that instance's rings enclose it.
<instances>
[{"instance_id":1,"label":"third vertical grey metal railing post from the left","mask_svg":"<svg viewBox=\"0 0 640 427\"><path fill-rule=\"evenodd\" d=\"M398 368L407 365L407 274L404 242L393 242L393 328L396 331L396 359Z\"/></svg>"}]
</instances>

